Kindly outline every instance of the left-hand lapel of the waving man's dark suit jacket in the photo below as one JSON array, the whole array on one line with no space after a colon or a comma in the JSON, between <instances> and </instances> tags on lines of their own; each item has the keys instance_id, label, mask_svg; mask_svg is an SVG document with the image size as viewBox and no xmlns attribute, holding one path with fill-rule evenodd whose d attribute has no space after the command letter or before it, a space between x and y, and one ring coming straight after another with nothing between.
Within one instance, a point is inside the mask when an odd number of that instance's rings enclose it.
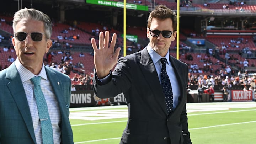
<instances>
[{"instance_id":1,"label":"left-hand lapel of the waving man's dark suit jacket","mask_svg":"<svg viewBox=\"0 0 256 144\"><path fill-rule=\"evenodd\" d=\"M142 70L142 73L145 76L146 81L148 81L148 84L155 96L156 101L159 103L164 113L167 114L165 108L164 94L162 91L162 87L160 85L158 74L156 73L155 65L152 59L150 58L148 51L146 50L146 47L141 51L140 57L141 59L139 66Z\"/></svg>"}]
</instances>

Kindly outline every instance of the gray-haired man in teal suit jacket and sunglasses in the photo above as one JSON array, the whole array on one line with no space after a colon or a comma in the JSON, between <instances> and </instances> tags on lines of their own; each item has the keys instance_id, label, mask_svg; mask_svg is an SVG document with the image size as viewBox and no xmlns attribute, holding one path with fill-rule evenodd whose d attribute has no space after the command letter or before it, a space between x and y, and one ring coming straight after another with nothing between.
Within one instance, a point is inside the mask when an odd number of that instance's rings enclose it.
<instances>
[{"instance_id":1,"label":"gray-haired man in teal suit jacket and sunglasses","mask_svg":"<svg viewBox=\"0 0 256 144\"><path fill-rule=\"evenodd\" d=\"M74 143L70 78L43 63L52 46L50 18L25 8L12 22L17 59L0 72L0 143Z\"/></svg>"}]
</instances>

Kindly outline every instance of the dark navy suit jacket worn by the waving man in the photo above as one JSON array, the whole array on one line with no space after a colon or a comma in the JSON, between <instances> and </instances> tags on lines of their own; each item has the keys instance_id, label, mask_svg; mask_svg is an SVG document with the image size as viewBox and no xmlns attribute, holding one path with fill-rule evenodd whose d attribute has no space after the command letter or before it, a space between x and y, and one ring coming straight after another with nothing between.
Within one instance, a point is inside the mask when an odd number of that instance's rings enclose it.
<instances>
[{"instance_id":1,"label":"dark navy suit jacket worn by the waving man","mask_svg":"<svg viewBox=\"0 0 256 144\"><path fill-rule=\"evenodd\" d=\"M120 144L191 144L186 101L188 66L170 56L181 95L168 116L158 74L146 48L121 57L107 84L94 75L94 92L100 98L123 92L128 121Z\"/></svg>"}]
</instances>

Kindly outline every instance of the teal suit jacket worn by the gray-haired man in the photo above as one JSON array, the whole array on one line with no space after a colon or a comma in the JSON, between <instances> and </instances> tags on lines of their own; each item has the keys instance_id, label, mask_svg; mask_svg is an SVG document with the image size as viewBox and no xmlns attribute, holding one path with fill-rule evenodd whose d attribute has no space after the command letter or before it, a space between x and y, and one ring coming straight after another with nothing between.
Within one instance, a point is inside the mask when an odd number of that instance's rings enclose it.
<instances>
[{"instance_id":1,"label":"teal suit jacket worn by the gray-haired man","mask_svg":"<svg viewBox=\"0 0 256 144\"><path fill-rule=\"evenodd\" d=\"M61 113L62 144L73 144L69 122L71 81L45 66ZM14 63L0 71L0 144L36 144L33 122L20 75Z\"/></svg>"}]
</instances>

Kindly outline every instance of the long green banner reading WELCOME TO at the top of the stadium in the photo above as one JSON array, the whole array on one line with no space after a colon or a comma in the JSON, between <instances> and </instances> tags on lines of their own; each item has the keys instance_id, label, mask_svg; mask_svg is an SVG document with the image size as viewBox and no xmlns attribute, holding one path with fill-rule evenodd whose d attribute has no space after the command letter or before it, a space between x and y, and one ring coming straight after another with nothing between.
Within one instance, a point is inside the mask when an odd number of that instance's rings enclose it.
<instances>
[{"instance_id":1,"label":"long green banner reading WELCOME TO at the top of the stadium","mask_svg":"<svg viewBox=\"0 0 256 144\"><path fill-rule=\"evenodd\" d=\"M123 2L107 1L107 0L86 0L86 3L96 4L96 5L104 5L104 6L112 6L112 7L119 7L119 8L124 7ZM126 3L126 8L127 9L133 9L133 10L148 11L148 6L145 6L145 5L136 5L136 4Z\"/></svg>"}]
</instances>

